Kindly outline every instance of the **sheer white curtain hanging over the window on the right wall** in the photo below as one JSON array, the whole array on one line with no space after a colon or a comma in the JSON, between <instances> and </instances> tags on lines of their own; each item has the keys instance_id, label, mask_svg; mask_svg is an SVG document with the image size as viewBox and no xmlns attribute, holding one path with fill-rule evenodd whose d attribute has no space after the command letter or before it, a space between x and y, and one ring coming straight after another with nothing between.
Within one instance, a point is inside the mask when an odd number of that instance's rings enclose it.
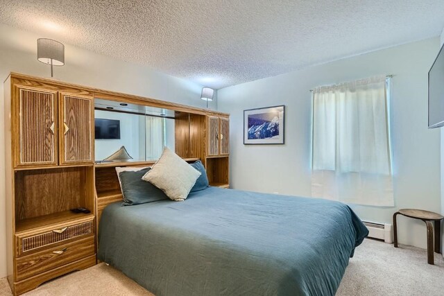
<instances>
[{"instance_id":1,"label":"sheer white curtain hanging over the window on the right wall","mask_svg":"<svg viewBox=\"0 0 444 296\"><path fill-rule=\"evenodd\" d=\"M311 195L393 206L388 128L385 76L314 89Z\"/></svg>"}]
</instances>

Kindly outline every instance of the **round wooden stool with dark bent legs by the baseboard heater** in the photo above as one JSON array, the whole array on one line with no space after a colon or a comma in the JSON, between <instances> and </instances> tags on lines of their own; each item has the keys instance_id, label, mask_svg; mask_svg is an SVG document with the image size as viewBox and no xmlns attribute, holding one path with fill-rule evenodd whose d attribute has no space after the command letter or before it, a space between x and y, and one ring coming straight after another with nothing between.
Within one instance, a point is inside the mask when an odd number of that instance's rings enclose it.
<instances>
[{"instance_id":1,"label":"round wooden stool with dark bent legs by the baseboard heater","mask_svg":"<svg viewBox=\"0 0 444 296\"><path fill-rule=\"evenodd\" d=\"M444 217L433 211L424 211L422 209L400 209L393 214L393 238L395 241L395 247L398 247L398 231L396 229L396 216L398 216L398 214L425 222L425 225L427 225L427 263L434 264L434 247L436 253L441 253L441 220L443 220ZM433 229L432 221L434 221L435 229ZM435 246L433 241L435 241Z\"/></svg>"}]
</instances>

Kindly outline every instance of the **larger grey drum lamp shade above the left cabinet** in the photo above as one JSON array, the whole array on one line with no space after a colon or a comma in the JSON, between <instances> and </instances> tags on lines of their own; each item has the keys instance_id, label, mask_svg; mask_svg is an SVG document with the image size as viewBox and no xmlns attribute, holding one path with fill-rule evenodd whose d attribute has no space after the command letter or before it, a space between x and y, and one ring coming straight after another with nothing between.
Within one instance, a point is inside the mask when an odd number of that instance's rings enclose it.
<instances>
[{"instance_id":1,"label":"larger grey drum lamp shade above the left cabinet","mask_svg":"<svg viewBox=\"0 0 444 296\"><path fill-rule=\"evenodd\" d=\"M52 39L37 39L37 60L44 64L63 66L65 64L65 45Z\"/></svg>"}]
</instances>

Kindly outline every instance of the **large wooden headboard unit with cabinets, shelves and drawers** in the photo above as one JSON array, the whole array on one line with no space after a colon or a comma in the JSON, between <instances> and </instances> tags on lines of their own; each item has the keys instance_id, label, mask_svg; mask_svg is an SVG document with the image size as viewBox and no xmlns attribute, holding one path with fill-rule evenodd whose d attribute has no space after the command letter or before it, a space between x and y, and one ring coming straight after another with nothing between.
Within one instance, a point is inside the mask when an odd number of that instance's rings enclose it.
<instances>
[{"instance_id":1,"label":"large wooden headboard unit with cabinets, shelves and drawers","mask_svg":"<svg viewBox=\"0 0 444 296\"><path fill-rule=\"evenodd\" d=\"M122 200L115 167L155 163L94 162L94 107L99 99L115 105L157 108L162 113L167 110L165 118L174 120L176 154L189 162L200 159L207 168L210 185L229 186L229 114L19 73L10 73L3 89L2 132L7 156L6 267L15 295L96 264L96 230L103 209ZM197 103L200 93L195 95ZM163 116L162 113L143 115ZM172 125L169 128L172 132ZM79 207L89 209L90 213L71 211ZM83 229L82 232L72 230L71 233L70 229L77 229L75 227ZM53 243L60 245L62 251L59 252L67 250L63 249L62 236L56 236L62 232L69 234L69 247L75 245L68 252L76 253L78 248L81 254L53 256L50 249L55 246ZM56 233L51 239L61 241L49 240L47 233ZM32 266L26 269L19 263L34 258L29 259L29 253L22 254L23 250L17 247L20 240L27 238L42 244L42 249L32 252L51 254L45 255L51 259L50 264L39 265L38 270L33 271ZM37 253L31 254L37 258Z\"/></svg>"}]
</instances>

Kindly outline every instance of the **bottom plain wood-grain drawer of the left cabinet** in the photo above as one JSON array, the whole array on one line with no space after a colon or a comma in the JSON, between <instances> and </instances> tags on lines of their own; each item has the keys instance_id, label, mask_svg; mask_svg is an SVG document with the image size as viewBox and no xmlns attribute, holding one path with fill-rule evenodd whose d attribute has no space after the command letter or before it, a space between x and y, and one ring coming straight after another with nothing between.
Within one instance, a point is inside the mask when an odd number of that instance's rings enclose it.
<instances>
[{"instance_id":1,"label":"bottom plain wood-grain drawer of the left cabinet","mask_svg":"<svg viewBox=\"0 0 444 296\"><path fill-rule=\"evenodd\" d=\"M42 272L58 268L67 263L95 254L94 236L88 236L71 243L51 247L37 253L19 257L16 263L16 281L22 281Z\"/></svg>"}]
</instances>

